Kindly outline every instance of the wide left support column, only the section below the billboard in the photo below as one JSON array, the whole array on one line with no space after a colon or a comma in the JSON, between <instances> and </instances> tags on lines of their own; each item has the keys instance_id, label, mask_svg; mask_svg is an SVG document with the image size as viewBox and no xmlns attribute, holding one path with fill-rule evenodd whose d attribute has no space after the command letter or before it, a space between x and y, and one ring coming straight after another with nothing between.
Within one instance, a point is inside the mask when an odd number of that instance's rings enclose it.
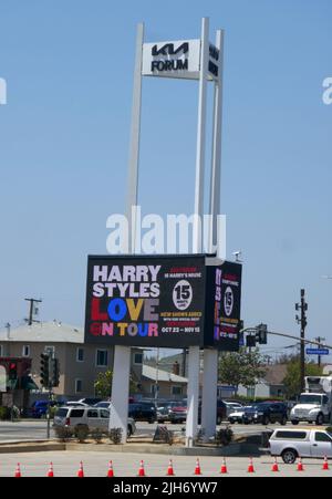
<instances>
[{"instance_id":1,"label":"wide left support column, only the section below the billboard","mask_svg":"<svg viewBox=\"0 0 332 499\"><path fill-rule=\"evenodd\" d=\"M108 429L122 428L122 444L127 439L131 347L114 347L112 403Z\"/></svg>"}]
</instances>

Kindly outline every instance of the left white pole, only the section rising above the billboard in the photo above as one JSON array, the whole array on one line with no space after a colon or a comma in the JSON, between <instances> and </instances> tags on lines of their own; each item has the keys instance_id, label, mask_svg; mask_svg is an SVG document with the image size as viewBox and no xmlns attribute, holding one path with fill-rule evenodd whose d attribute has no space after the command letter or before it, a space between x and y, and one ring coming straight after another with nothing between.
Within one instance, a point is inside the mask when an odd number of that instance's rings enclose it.
<instances>
[{"instance_id":1,"label":"left white pole, only the section rising above the billboard","mask_svg":"<svg viewBox=\"0 0 332 499\"><path fill-rule=\"evenodd\" d=\"M142 60L144 43L144 24L137 25L136 59L134 70L134 91L132 110L132 129L127 179L126 216L128 221L128 252L135 253L136 248L136 206L138 195L138 162L139 162L139 135L141 135L141 108L142 108Z\"/></svg>"}]
</instances>

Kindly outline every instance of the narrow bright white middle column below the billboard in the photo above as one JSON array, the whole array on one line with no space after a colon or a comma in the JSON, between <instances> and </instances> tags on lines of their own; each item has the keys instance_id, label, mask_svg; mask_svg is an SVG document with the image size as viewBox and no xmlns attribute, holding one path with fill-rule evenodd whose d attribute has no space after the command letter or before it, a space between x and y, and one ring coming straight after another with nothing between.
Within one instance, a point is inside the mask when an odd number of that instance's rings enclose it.
<instances>
[{"instance_id":1,"label":"narrow bright white middle column below the billboard","mask_svg":"<svg viewBox=\"0 0 332 499\"><path fill-rule=\"evenodd\" d=\"M199 346L189 346L188 355L188 388L187 388L187 425L186 446L193 447L197 434L199 397Z\"/></svg>"}]
</instances>

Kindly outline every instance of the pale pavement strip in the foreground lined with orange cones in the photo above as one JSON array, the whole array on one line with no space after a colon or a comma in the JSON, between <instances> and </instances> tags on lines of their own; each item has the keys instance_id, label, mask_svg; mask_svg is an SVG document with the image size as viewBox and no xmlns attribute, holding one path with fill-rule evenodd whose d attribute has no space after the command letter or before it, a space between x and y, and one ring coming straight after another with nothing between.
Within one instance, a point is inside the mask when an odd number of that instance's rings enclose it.
<instances>
[{"instance_id":1,"label":"pale pavement strip in the foreground lined with orange cones","mask_svg":"<svg viewBox=\"0 0 332 499\"><path fill-rule=\"evenodd\" d=\"M108 461L113 461L114 476L135 477L143 459L146 476L165 477L169 462L168 456L154 454L127 454L102 451L49 451L0 454L0 477L13 477L20 462L22 477L45 477L50 462L54 467L54 477L76 477L80 461L83 462L84 476L105 477ZM322 470L322 460L304 459L304 471L297 471L297 465L284 465L278 459L279 471L272 472L273 459L269 456L255 458L255 472L249 474L249 459L246 457L227 458L227 475L220 475L222 458L204 456L199 458L203 477L330 477L331 470ZM176 477L195 479L196 458L188 456L173 457Z\"/></svg>"}]
</instances>

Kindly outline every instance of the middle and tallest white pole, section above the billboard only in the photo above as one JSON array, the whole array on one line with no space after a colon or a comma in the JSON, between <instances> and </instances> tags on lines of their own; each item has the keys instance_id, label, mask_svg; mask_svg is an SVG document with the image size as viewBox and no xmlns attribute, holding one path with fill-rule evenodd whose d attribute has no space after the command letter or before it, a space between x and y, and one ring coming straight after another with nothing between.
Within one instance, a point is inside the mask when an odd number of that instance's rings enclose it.
<instances>
[{"instance_id":1,"label":"middle and tallest white pole, section above the billboard only","mask_svg":"<svg viewBox=\"0 0 332 499\"><path fill-rule=\"evenodd\" d=\"M204 177L205 177L205 142L206 142L206 94L207 72L209 61L209 19L201 20L200 41L200 73L198 96L198 124L197 124L197 148L196 148L196 179L195 179L195 220L193 228L193 252L200 253L201 222L204 215Z\"/></svg>"}]
</instances>

